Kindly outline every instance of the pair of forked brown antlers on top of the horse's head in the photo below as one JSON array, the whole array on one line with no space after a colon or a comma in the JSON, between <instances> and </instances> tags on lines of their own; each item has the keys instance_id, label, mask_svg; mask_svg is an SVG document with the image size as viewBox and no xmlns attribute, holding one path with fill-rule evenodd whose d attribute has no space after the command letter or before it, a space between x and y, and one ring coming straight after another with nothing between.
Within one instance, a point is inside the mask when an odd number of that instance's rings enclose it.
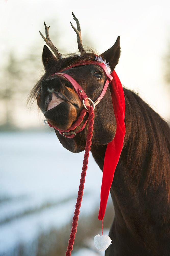
<instances>
[{"instance_id":1,"label":"pair of forked brown antlers on top of the horse's head","mask_svg":"<svg viewBox=\"0 0 170 256\"><path fill-rule=\"evenodd\" d=\"M77 29L73 26L73 24L70 22L72 28L74 29L75 33L77 34L77 44L78 44L78 48L81 54L84 54L86 51L83 48L83 44L82 44L82 34L81 34L81 28L80 28L80 23L79 20L75 17L74 13L72 12L73 15L73 19L76 21L77 24ZM45 36L43 36L43 34L40 32L40 35L42 36L42 38L44 39L44 41L46 42L46 44L50 47L50 49L54 52L57 61L62 59L62 54L58 51L58 49L54 46L54 44L52 43L49 34L48 34L48 30L50 27L47 27L45 22L44 22L44 26L45 26Z\"/></svg>"}]
</instances>

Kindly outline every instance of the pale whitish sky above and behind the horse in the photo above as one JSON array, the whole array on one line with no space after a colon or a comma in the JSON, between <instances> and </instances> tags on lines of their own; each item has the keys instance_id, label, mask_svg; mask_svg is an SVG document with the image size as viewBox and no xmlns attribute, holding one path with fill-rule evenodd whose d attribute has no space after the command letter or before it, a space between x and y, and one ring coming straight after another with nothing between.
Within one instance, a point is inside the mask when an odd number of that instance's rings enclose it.
<instances>
[{"instance_id":1,"label":"pale whitish sky above and behind the horse","mask_svg":"<svg viewBox=\"0 0 170 256\"><path fill-rule=\"evenodd\" d=\"M99 53L110 48L120 35L121 57L115 68L122 84L139 95L163 118L169 117L169 95L163 79L163 58L167 53L169 1L1 1L1 66L5 54L14 49L24 56L36 42L43 49L39 34L57 19L60 38L57 48L77 50L75 25L71 11L79 19L82 38L87 36ZM54 25L53 25L54 26ZM50 27L50 30L56 28ZM55 38L53 38L55 42ZM89 45L90 46L90 45ZM40 54L41 61L41 54ZM38 77L37 77L38 78ZM33 85L30 85L30 89ZM25 100L25 99L24 99ZM36 110L18 110L22 126L43 125ZM41 120L40 120L41 119ZM31 121L31 122L30 122Z\"/></svg>"}]
</instances>

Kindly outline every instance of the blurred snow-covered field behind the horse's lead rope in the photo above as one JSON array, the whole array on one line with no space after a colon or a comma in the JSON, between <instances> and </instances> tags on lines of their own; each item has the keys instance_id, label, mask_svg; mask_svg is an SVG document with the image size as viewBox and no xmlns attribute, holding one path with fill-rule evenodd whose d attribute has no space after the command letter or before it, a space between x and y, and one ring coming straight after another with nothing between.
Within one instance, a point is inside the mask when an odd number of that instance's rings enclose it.
<instances>
[{"instance_id":1,"label":"blurred snow-covered field behind the horse's lead rope","mask_svg":"<svg viewBox=\"0 0 170 256\"><path fill-rule=\"evenodd\" d=\"M67 151L54 131L1 134L2 255L19 243L33 241L40 231L70 222L83 155ZM101 180L102 172L90 155L81 214L99 208ZM87 249L75 255L87 255Z\"/></svg>"}]
</instances>

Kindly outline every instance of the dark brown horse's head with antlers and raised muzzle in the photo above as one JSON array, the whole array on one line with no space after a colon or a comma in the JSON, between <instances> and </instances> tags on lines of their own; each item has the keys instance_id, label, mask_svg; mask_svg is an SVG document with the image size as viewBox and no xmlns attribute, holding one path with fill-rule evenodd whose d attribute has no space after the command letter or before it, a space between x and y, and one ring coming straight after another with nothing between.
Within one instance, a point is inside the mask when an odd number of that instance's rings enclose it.
<instances>
[{"instance_id":1,"label":"dark brown horse's head with antlers and raised muzzle","mask_svg":"<svg viewBox=\"0 0 170 256\"><path fill-rule=\"evenodd\" d=\"M78 118L81 110L83 109L83 104L75 92L72 84L64 77L60 75L52 74L59 72L60 70L80 61L84 60L95 60L96 54L91 52L86 52L82 45L80 24L77 18L76 20L77 29L73 27L77 34L77 42L81 55L71 55L70 57L62 58L57 48L53 45L49 38L48 29L49 27L45 24L46 38L41 34L43 39L46 41L47 45L53 50L55 56L49 50L47 46L44 45L42 61L45 68L45 74L36 84L32 90L33 96L37 98L37 104L41 111L44 113L45 118L55 127L60 130L67 130L72 123ZM109 63L111 71L115 68L120 57L120 37L117 37L115 44L103 54L100 58L106 60ZM69 74L74 78L83 90L86 92L87 96L95 101L104 86L106 81L105 74L101 67L98 65L84 65L77 66L64 71L64 73ZM81 126L87 119L85 116ZM80 129L80 127L77 127ZM55 130L56 131L56 130ZM68 141L67 138L62 138L58 131L56 134L64 147L72 152L80 152L84 150L85 140L83 138L86 134L87 129L85 129L81 134L76 135L76 138ZM116 121L113 111L111 91L108 87L104 98L97 105L95 109L95 120L94 120L94 141L99 144L108 144L113 140L116 131ZM81 145L78 145L78 138L81 138Z\"/></svg>"}]
</instances>

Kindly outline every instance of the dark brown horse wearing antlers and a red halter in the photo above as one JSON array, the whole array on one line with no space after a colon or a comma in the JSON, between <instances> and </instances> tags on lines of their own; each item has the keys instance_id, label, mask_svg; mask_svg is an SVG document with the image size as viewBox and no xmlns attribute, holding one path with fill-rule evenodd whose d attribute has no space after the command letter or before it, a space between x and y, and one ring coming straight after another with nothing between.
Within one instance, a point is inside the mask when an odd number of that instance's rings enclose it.
<instances>
[{"instance_id":1,"label":"dark brown horse wearing antlers and a red halter","mask_svg":"<svg viewBox=\"0 0 170 256\"><path fill-rule=\"evenodd\" d=\"M53 45L45 24L46 37L40 34L44 45L42 62L45 73L30 92L29 100L37 99L45 118L58 129L67 130L79 117L84 108L72 83L66 78L52 74L67 68L64 73L74 78L95 101L106 81L101 67L93 64L69 68L88 60L95 60L93 50L84 50L80 23L73 17L77 29L77 43L80 54L62 58ZM100 55L113 71L121 53L120 37L114 45ZM61 71L62 72L62 71ZM107 144L116 132L111 87L94 110L94 130L91 153L103 170ZM138 94L123 88L125 96L126 134L123 150L117 164L110 189L115 215L109 236L113 241L105 255L169 255L169 125ZM80 130L87 119L74 131ZM55 133L67 150L78 153L85 149L87 127L73 138L64 137L57 129Z\"/></svg>"}]
</instances>

